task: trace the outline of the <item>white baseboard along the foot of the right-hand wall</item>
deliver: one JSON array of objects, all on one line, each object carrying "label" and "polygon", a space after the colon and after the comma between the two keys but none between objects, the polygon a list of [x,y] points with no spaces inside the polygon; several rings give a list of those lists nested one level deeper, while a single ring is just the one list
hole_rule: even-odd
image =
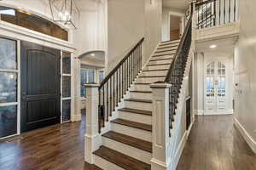
[{"label": "white baseboard along the foot of the right-hand wall", "polygon": [[235,120],[235,126],[241,133],[241,136],[247,141],[247,144],[256,154],[256,141],[251,137],[249,133],[247,133],[247,130],[241,125],[241,123],[236,119],[236,117],[234,116],[233,118]]}]

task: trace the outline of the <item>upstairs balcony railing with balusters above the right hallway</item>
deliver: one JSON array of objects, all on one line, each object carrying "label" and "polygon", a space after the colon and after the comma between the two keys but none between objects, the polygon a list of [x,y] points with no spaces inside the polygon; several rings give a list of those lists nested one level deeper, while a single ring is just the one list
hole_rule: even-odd
[{"label": "upstairs balcony railing with balusters above the right hallway", "polygon": [[238,0],[208,0],[195,4],[197,29],[236,22]]}]

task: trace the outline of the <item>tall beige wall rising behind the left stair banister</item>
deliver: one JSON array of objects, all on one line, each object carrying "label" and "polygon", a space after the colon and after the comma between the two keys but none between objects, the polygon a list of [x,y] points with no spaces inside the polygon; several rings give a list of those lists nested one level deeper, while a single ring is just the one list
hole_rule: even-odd
[{"label": "tall beige wall rising behind the left stair banister", "polygon": [[108,0],[108,57],[111,71],[142,37],[143,62],[160,42],[161,0]]}]

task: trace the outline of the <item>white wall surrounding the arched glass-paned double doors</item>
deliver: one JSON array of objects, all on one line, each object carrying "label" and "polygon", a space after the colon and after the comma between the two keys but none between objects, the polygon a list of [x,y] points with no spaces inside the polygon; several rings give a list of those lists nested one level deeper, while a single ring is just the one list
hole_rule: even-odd
[{"label": "white wall surrounding the arched glass-paned double doors", "polygon": [[233,55],[222,53],[199,53],[195,55],[195,113],[204,113],[205,65],[212,60],[221,60],[226,65],[226,111],[233,110]]}]

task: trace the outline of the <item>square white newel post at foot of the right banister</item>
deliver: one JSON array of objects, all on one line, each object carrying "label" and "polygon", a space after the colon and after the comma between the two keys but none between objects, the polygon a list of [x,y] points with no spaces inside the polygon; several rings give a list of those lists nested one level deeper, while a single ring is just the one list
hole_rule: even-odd
[{"label": "square white newel post at foot of the right banister", "polygon": [[152,110],[152,159],[151,169],[166,170],[171,165],[171,153],[169,137],[169,88],[171,84],[166,82],[155,82],[150,85],[153,96]]}]

